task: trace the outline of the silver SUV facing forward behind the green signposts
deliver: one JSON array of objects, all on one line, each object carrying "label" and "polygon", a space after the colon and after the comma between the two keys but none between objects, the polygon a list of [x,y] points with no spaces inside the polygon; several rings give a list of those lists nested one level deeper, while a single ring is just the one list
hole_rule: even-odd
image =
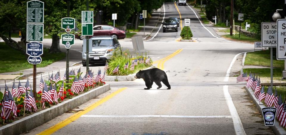
[{"label": "silver SUV facing forward behind the green signposts", "polygon": [[[93,36],[89,39],[89,64],[106,63],[120,44],[115,36]],[[86,66],[86,39],[83,40],[83,66]]]}]

